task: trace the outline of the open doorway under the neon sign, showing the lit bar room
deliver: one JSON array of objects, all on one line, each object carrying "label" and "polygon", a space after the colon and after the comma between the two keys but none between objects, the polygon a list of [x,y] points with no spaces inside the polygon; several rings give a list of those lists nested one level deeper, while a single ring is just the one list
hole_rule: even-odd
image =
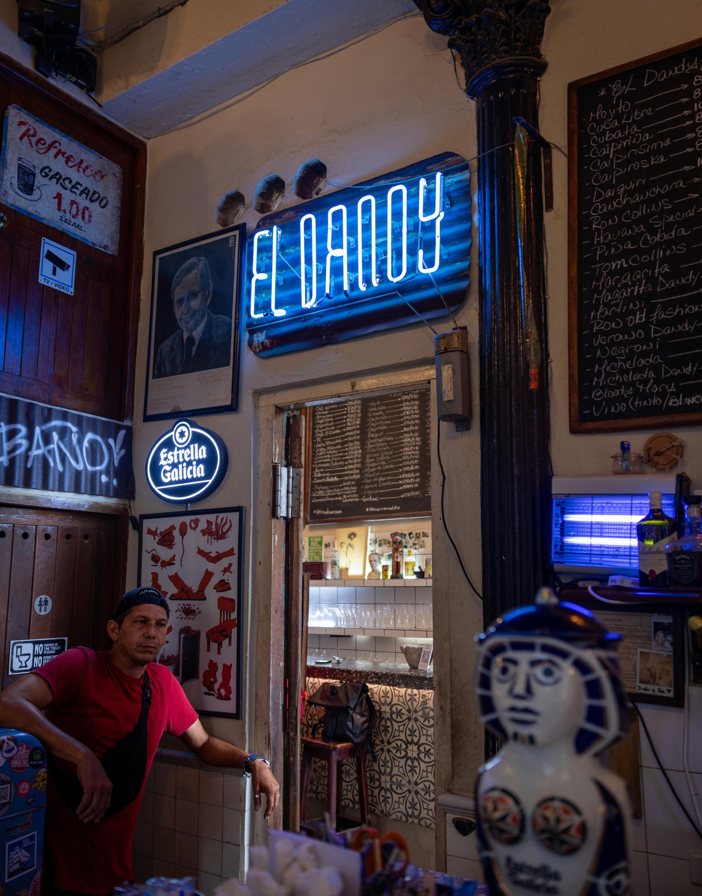
[{"label": "open doorway under the neon sign, showing the lit bar room", "polygon": [[[363,682],[379,717],[367,763],[372,823],[409,834],[425,866],[433,866],[435,797],[432,380],[433,367],[427,366],[356,380],[336,394],[330,394],[330,384],[260,397],[261,455],[270,450],[274,463],[299,465],[295,478],[300,480],[301,506],[299,516],[291,519],[267,523],[261,514],[256,585],[259,650],[265,650],[264,639],[270,638],[270,665],[265,664],[270,681],[261,681],[267,670],[257,656],[256,703],[260,710],[267,692],[271,713],[265,736],[274,764],[278,756],[285,791],[278,823],[297,830],[301,820],[304,738],[312,737],[320,714],[304,697],[325,681]],[[364,431],[360,444],[359,425]],[[378,453],[379,446],[387,456]],[[334,452],[341,470],[331,470]],[[359,502],[347,480],[357,484],[365,473],[367,484],[369,457],[375,490],[360,495],[364,500]],[[325,487],[325,478],[334,487]],[[341,479],[345,482],[339,486]],[[273,489],[273,474],[268,482],[264,476],[261,480],[262,498],[266,485]],[[316,519],[313,508],[322,512]],[[271,552],[268,564],[265,540]],[[265,565],[271,570],[268,582]],[[422,658],[425,647],[429,650]],[[421,670],[420,659],[425,667]],[[261,731],[260,722],[256,728]],[[340,827],[358,823],[361,814],[355,764],[339,763]],[[330,780],[325,763],[315,760],[307,820],[323,813]]]}]

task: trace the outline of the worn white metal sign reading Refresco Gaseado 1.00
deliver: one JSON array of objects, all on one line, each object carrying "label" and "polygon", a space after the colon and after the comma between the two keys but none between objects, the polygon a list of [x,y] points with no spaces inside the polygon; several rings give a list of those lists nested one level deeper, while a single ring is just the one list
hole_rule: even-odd
[{"label": "worn white metal sign reading Refresco Gaseado 1.00", "polygon": [[4,114],[0,201],[116,255],[122,168],[19,106]]}]

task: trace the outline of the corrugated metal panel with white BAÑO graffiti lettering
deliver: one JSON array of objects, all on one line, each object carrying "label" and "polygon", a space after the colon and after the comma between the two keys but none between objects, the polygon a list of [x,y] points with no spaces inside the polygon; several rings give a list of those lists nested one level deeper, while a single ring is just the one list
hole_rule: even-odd
[{"label": "corrugated metal panel with white BA\u00d1O graffiti lettering", "polygon": [[0,484],[133,497],[132,426],[0,394]]}]

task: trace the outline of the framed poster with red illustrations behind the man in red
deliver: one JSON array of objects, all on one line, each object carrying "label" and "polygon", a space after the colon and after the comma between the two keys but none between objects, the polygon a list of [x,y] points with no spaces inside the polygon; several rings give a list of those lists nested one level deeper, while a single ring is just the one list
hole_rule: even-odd
[{"label": "framed poster with red illustrations behind the man in red", "polygon": [[201,716],[241,719],[244,507],[139,518],[139,584],[170,606],[158,662]]}]

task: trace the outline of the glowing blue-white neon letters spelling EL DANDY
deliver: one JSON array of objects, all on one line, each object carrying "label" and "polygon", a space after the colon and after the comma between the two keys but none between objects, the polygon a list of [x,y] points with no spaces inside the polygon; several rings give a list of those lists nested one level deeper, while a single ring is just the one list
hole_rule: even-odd
[{"label": "glowing blue-white neon letters spelling EL DANDY", "polygon": [[[429,187],[427,180],[422,177],[419,181],[419,209],[416,272],[432,274],[439,268],[441,261],[441,220],[444,217],[444,176],[439,172],[434,181],[433,202],[428,198]],[[404,280],[410,272],[407,266],[407,186],[395,184],[390,186],[385,202],[379,197],[381,213],[382,204],[387,206],[387,237],[376,243],[376,197],[365,194],[355,203],[355,208],[347,209],[346,205],[334,205],[327,212],[327,257],[325,265],[317,264],[317,219],[310,212],[299,221],[299,237],[295,234],[295,243],[299,238],[299,274],[300,299],[304,309],[311,309],[317,304],[319,298],[334,297],[335,277],[332,274],[332,263],[335,260],[341,265],[343,271],[343,291],[349,294],[349,282],[355,281],[357,288],[364,293],[366,289],[377,287],[381,283],[381,276],[387,273],[391,283]],[[433,206],[433,208],[432,208]],[[393,211],[396,217],[393,218]],[[399,212],[399,215],[398,215]],[[355,223],[354,218],[355,216]],[[349,220],[350,219],[350,220]],[[398,219],[398,220],[396,220]],[[430,225],[427,233],[422,232],[422,225]],[[431,225],[433,224],[433,233]],[[364,227],[365,226],[365,227]],[[413,228],[412,221],[409,229]],[[350,231],[350,233],[349,233]],[[282,317],[287,314],[285,308],[276,307],[276,283],[280,276],[278,271],[278,253],[280,251],[282,231],[278,226],[268,230],[259,230],[253,235],[253,253],[251,270],[251,306],[250,317]],[[260,246],[261,240],[263,245]],[[387,242],[387,246],[383,246]],[[357,254],[357,271],[349,272],[349,246],[355,248]],[[425,247],[424,247],[425,246]],[[323,252],[324,249],[322,248]],[[266,258],[270,257],[270,273],[259,270],[259,253],[265,252]],[[386,259],[387,271],[381,271],[379,260]],[[318,289],[317,274],[326,267],[326,278],[323,280],[324,291]],[[382,265],[385,267],[385,265]],[[357,280],[356,280],[357,273]],[[366,275],[370,274],[370,281],[366,281]],[[270,311],[256,311],[256,284],[270,280]],[[259,302],[261,298],[259,297]],[[266,303],[268,304],[268,303]]]}]

